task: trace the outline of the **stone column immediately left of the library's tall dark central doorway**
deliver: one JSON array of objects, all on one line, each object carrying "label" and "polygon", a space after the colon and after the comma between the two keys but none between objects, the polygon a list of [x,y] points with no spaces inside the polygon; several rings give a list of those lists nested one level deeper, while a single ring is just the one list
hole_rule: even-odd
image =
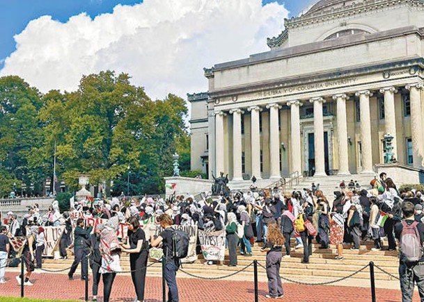
[{"label": "stone column immediately left of the library's tall dark central doorway", "polygon": [[287,106],[290,107],[290,156],[292,161],[291,172],[299,171],[299,175],[302,175],[301,168],[301,146],[300,146],[300,115],[299,107],[301,106],[300,101],[288,101]]}]

